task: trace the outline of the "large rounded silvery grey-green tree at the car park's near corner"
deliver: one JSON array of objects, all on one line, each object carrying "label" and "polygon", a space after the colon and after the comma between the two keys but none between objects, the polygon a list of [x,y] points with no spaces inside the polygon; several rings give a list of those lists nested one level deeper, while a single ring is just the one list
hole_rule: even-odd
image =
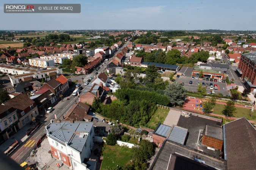
[{"label": "large rounded silvery grey-green tree at the car park's near corner", "polygon": [[184,103],[187,90],[182,83],[170,83],[165,89],[165,95],[170,99],[172,105],[182,105]]}]

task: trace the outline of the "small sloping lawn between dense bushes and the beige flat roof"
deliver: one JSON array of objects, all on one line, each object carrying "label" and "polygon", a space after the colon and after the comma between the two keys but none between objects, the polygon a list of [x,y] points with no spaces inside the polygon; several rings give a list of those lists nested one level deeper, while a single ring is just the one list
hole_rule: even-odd
[{"label": "small sloping lawn between dense bushes and the beige flat roof", "polygon": [[155,129],[159,122],[163,123],[170,110],[157,108],[150,121],[147,124],[148,128]]}]

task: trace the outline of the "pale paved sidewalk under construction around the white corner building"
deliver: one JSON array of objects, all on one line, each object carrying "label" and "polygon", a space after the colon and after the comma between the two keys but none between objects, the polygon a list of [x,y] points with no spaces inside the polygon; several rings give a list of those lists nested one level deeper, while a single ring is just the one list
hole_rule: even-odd
[{"label": "pale paved sidewalk under construction around the white corner building", "polygon": [[[56,170],[56,169],[70,170],[67,165],[63,164],[63,162],[55,159],[54,157],[52,158],[51,154],[48,153],[49,150],[50,150],[50,145],[49,145],[48,139],[46,138],[39,145],[36,152],[35,161],[38,162],[38,169],[47,168],[49,170]],[[57,163],[60,164],[61,166],[60,168],[57,168],[57,165],[56,165]]]}]

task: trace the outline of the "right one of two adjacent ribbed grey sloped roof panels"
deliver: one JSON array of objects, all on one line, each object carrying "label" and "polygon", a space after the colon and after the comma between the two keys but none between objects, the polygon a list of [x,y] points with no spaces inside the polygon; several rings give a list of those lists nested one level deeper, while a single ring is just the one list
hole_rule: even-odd
[{"label": "right one of two adjacent ribbed grey sloped roof panels", "polygon": [[174,126],[173,129],[171,130],[171,134],[168,139],[183,145],[186,139],[187,133],[188,133],[188,129],[182,128],[179,126]]}]

